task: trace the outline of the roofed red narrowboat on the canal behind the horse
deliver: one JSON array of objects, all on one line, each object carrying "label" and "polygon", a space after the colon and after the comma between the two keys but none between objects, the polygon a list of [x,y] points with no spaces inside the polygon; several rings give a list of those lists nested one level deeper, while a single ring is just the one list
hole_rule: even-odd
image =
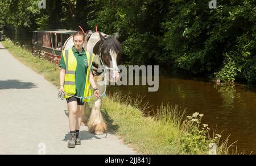
[{"label": "roofed red narrowboat on the canal behind the horse", "polygon": [[65,29],[33,31],[32,50],[43,51],[46,59],[59,64],[63,45],[75,32]]}]

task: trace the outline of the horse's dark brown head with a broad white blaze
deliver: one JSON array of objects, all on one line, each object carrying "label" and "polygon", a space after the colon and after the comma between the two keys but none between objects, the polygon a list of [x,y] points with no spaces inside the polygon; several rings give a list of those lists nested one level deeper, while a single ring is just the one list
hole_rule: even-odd
[{"label": "horse's dark brown head with a broad white blaze", "polygon": [[[103,36],[101,32],[100,41],[97,54],[101,56],[101,59],[104,61],[105,65],[110,68],[109,70],[109,79],[110,82],[116,82],[119,78],[119,72],[117,68],[117,57],[122,51],[121,43],[118,41],[119,34],[118,32],[115,36]],[[94,52],[94,51],[93,51]]]}]

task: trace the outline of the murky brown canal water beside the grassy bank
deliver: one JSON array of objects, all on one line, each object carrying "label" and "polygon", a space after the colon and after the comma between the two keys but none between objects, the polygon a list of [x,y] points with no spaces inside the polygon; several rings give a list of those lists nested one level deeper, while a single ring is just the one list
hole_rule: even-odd
[{"label": "murky brown canal water beside the grassy bank", "polygon": [[[204,114],[202,123],[218,128],[229,143],[238,142],[238,152],[256,153],[256,93],[244,85],[220,87],[212,82],[159,77],[158,92],[147,92],[147,86],[109,86],[110,92],[130,92],[131,97],[144,96],[155,110],[163,105],[179,105],[187,115]],[[150,111],[150,110],[146,110]]]}]

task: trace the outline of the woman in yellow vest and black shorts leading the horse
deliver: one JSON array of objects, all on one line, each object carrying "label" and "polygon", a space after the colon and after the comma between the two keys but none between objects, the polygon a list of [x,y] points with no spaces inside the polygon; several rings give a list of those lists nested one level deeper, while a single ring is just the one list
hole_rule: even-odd
[{"label": "woman in yellow vest and black shorts leading the horse", "polygon": [[[93,88],[94,96],[100,97],[92,75],[93,53],[86,52],[84,44],[84,33],[77,31],[73,35],[74,46],[68,51],[63,51],[60,60],[60,92],[71,94],[72,96],[88,97],[91,96],[89,86]],[[82,122],[82,112],[85,102],[89,99],[80,99],[65,94],[69,110],[69,129],[70,138],[69,148],[75,148],[81,144],[79,130]]]}]

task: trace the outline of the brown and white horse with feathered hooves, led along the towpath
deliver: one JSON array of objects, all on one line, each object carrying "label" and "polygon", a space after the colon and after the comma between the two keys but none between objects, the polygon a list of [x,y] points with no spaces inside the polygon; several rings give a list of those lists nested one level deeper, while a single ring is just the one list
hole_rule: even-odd
[{"label": "brown and white horse with feathered hooves, led along the towpath", "polygon": [[[93,75],[100,94],[106,92],[107,81],[117,82],[119,78],[117,57],[122,51],[122,46],[118,39],[118,32],[114,36],[93,31],[85,33],[84,49],[95,54]],[[64,43],[63,50],[69,49],[73,45],[73,36],[71,36]],[[96,135],[104,134],[107,131],[106,122],[101,114],[101,102],[102,96],[94,102],[91,109],[86,103],[85,111],[82,113],[82,123],[88,126],[89,132]]]}]

